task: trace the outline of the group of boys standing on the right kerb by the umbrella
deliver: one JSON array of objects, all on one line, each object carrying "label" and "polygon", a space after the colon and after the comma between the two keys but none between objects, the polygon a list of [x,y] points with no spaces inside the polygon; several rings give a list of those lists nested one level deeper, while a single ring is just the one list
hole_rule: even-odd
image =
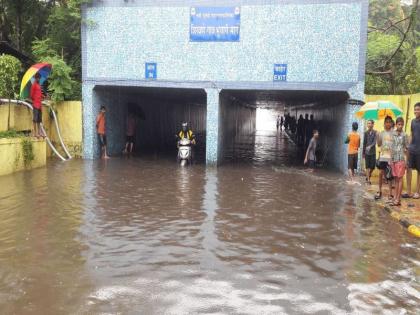
[{"label": "group of boys standing on the right kerb by the umbrella", "polygon": [[[415,118],[411,121],[411,137],[404,132],[404,118],[398,117],[395,121],[391,116],[385,117],[384,130],[374,130],[374,121],[367,122],[364,132],[362,154],[365,160],[366,182],[371,184],[371,176],[375,168],[379,169],[378,192],[375,199],[382,198],[382,187],[388,182],[388,201],[394,206],[401,205],[401,198],[420,199],[420,103],[414,106]],[[354,171],[357,169],[360,136],[357,133],[358,124],[353,123],[352,132],[349,133],[348,143],[348,169],[350,180],[354,180]],[[376,148],[379,156],[376,156]],[[417,187],[412,194],[412,172],[417,171]],[[407,192],[402,193],[403,178],[407,175]]]}]

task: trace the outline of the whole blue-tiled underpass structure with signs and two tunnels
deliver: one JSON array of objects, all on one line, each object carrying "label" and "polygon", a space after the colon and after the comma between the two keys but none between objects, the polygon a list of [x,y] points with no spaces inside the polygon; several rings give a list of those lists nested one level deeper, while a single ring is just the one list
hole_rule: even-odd
[{"label": "whole blue-tiled underpass structure with signs and two tunnels", "polygon": [[[368,0],[94,0],[83,8],[84,157],[97,158],[95,116],[108,108],[120,153],[129,103],[144,112],[136,144],[173,148],[182,121],[203,159],[220,163],[256,109],[312,113],[345,170],[343,145],[364,98]],[[153,141],[151,141],[153,139]],[[200,149],[200,150],[201,150]]]}]

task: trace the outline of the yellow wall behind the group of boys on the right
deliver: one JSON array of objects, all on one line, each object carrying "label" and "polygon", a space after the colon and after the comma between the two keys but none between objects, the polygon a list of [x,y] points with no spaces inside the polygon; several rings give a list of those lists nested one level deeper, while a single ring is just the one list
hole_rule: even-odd
[{"label": "yellow wall behind the group of boys on the right", "polygon": [[[411,120],[414,119],[414,105],[420,102],[420,93],[412,94],[412,95],[365,95],[365,102],[373,102],[373,101],[391,101],[395,105],[399,106],[403,110],[402,117],[404,118],[405,125],[404,130],[407,134],[411,134],[410,126]],[[384,130],[383,121],[375,122],[375,129],[378,131]],[[414,172],[413,174],[413,183],[412,183],[412,190],[415,189],[415,185],[417,183],[417,176]],[[405,180],[404,180],[405,186]]]}]

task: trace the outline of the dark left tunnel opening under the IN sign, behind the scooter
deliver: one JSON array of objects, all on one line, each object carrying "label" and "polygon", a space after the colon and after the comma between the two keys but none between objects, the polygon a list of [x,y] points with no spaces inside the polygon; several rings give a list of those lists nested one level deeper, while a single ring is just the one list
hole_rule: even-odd
[{"label": "dark left tunnel opening under the IN sign, behind the scooter", "polygon": [[96,103],[107,108],[108,151],[120,155],[125,147],[127,116],[136,121],[134,153],[176,159],[175,135],[182,122],[194,131],[195,160],[205,161],[206,93],[202,89],[97,86]]}]

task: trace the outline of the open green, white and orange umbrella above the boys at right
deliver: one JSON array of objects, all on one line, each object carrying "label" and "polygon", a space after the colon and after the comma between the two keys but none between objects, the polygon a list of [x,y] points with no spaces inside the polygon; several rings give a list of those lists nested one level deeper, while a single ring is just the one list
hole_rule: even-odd
[{"label": "open green, white and orange umbrella above the boys at right", "polygon": [[361,119],[381,120],[386,116],[396,118],[400,116],[403,111],[394,103],[390,101],[376,101],[367,102],[357,112],[356,117]]}]

